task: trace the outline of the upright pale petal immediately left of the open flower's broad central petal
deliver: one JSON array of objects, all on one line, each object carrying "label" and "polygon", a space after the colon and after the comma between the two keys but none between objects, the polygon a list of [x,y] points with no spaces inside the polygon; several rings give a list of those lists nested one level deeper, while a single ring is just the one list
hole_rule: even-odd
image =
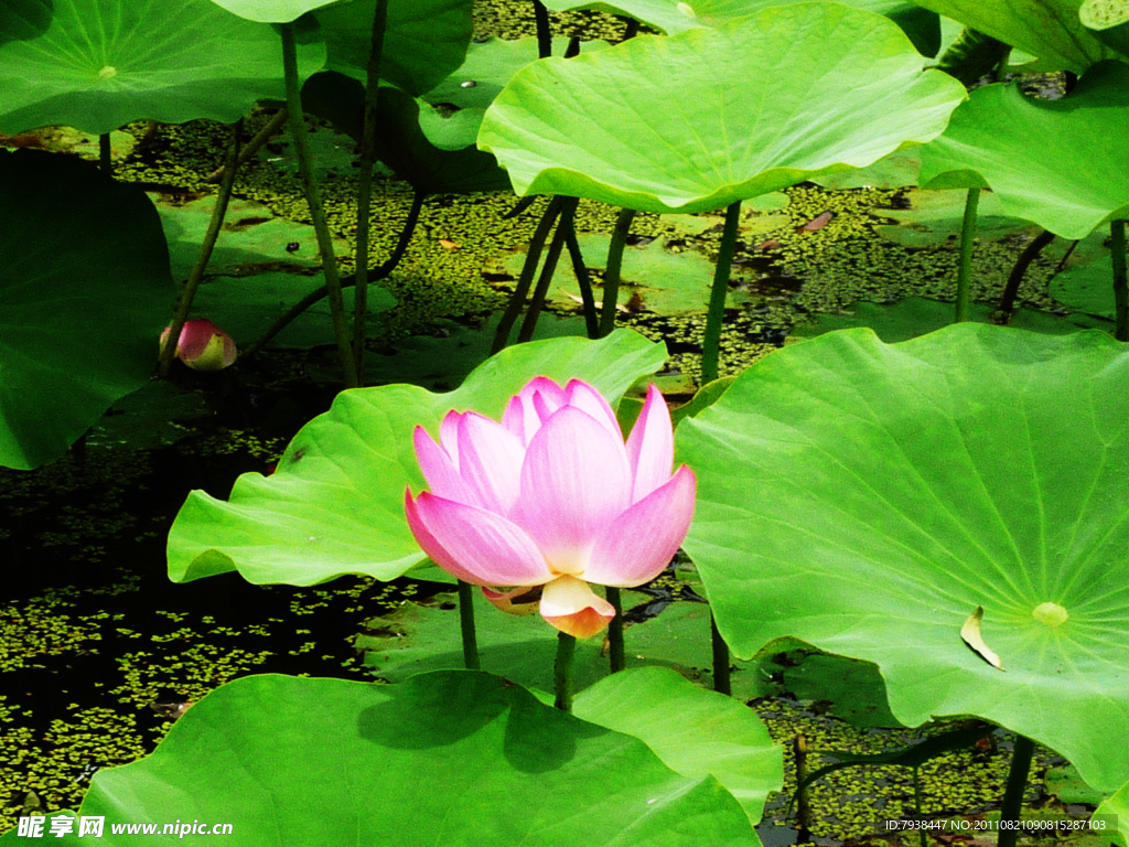
[{"label": "upright pale petal immediately left of the open flower's broad central petal", "polygon": [[501,424],[475,412],[458,422],[458,471],[476,505],[508,515],[520,491],[524,457],[524,445]]}]

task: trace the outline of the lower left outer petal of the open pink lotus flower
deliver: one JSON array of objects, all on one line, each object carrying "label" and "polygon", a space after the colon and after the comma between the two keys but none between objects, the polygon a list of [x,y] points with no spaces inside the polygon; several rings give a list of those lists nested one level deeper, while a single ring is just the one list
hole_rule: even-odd
[{"label": "lower left outer petal of the open pink lotus flower", "polygon": [[425,491],[404,494],[412,534],[436,565],[472,585],[541,585],[555,574],[513,521]]}]

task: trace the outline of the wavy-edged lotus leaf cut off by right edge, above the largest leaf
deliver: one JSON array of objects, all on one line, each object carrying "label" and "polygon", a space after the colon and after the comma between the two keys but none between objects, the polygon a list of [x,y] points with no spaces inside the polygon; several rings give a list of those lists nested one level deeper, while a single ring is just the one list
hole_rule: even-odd
[{"label": "wavy-edged lotus leaf cut off by right edge, above the largest leaf", "polygon": [[[1027,98],[1015,84],[986,86],[945,134],[921,149],[921,185],[975,172],[1004,211],[1065,238],[1129,217],[1129,67],[1102,62],[1069,97]],[[1038,139],[1033,143],[1032,139]]]}]

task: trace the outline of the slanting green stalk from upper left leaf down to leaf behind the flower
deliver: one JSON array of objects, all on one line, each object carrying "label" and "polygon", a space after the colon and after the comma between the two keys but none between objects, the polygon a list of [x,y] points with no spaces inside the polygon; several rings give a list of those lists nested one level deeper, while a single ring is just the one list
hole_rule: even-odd
[{"label": "slanting green stalk from upper left leaf down to leaf behind the flower", "polygon": [[330,299],[330,314],[333,316],[333,334],[338,340],[338,357],[341,360],[341,373],[347,388],[356,388],[357,367],[352,350],[349,348],[349,320],[345,317],[345,305],[341,297],[341,277],[338,272],[338,260],[333,255],[333,236],[325,221],[325,209],[322,208],[322,195],[314,180],[314,157],[309,150],[309,139],[306,137],[306,120],[301,111],[301,86],[298,82],[298,47],[295,43],[294,23],[281,24],[282,27],[282,70],[286,75],[286,106],[290,112],[290,134],[294,138],[294,149],[298,156],[298,174],[301,176],[301,187],[309,206],[309,218],[317,235],[317,250],[322,255],[322,272],[325,274],[325,286]]}]

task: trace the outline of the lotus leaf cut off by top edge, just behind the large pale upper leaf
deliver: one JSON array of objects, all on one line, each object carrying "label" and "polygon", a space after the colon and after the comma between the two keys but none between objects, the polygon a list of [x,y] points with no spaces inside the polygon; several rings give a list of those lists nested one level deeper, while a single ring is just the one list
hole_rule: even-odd
[{"label": "lotus leaf cut off by top edge, just behind the large pale upper leaf", "polygon": [[[557,11],[593,9],[627,15],[667,35],[676,35],[686,29],[721,26],[769,6],[787,6],[789,2],[809,0],[695,0],[693,3],[679,0],[549,0],[545,6]],[[940,18],[934,12],[901,0],[843,0],[843,6],[876,11],[896,21],[926,55],[935,55],[940,47]]]}]

